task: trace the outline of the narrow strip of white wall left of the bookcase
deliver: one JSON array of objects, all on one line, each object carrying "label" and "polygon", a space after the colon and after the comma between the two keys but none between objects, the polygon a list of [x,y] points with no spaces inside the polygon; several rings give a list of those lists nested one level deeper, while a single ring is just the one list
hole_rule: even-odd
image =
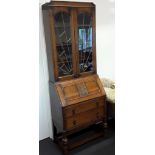
[{"label": "narrow strip of white wall left of the bookcase", "polygon": [[53,131],[48,89],[46,46],[43,33],[41,8],[39,10],[39,15],[39,140],[42,140],[47,137],[52,138]]}]

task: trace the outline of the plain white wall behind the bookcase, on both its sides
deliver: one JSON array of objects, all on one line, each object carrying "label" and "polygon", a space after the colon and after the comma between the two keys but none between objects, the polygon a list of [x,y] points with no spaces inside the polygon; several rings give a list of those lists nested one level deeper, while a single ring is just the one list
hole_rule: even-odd
[{"label": "plain white wall behind the bookcase, on both its sides", "polygon": [[[69,0],[68,0],[69,1]],[[75,0],[72,0],[75,1]],[[83,0],[78,0],[83,1]],[[97,72],[100,77],[115,79],[114,77],[114,0],[86,0],[96,4],[96,53]],[[49,0],[40,0],[40,6]],[[84,1],[83,1],[84,2]],[[39,140],[52,135],[52,118],[48,91],[48,71],[46,46],[42,26],[40,7],[40,39],[39,39]]]}]

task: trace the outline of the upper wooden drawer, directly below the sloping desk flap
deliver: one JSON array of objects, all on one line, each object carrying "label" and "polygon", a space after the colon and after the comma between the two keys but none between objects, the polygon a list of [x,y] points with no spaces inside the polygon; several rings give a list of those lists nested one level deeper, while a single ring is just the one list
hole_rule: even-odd
[{"label": "upper wooden drawer, directly below the sloping desk flap", "polygon": [[104,98],[97,98],[97,99],[92,99],[85,102],[77,103],[75,105],[64,108],[64,117],[68,118],[68,117],[77,115],[79,113],[96,109],[101,106],[104,106]]}]

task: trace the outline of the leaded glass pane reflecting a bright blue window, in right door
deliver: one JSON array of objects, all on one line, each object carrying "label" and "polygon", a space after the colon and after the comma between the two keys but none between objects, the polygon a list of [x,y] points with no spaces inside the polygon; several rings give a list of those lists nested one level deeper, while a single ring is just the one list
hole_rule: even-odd
[{"label": "leaded glass pane reflecting a bright blue window, in right door", "polygon": [[78,52],[80,72],[93,71],[92,65],[92,17],[88,13],[78,15]]}]

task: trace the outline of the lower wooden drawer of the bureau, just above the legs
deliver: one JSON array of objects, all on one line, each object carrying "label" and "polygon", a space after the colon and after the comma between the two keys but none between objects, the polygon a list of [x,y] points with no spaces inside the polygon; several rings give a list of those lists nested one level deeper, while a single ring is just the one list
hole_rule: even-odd
[{"label": "lower wooden drawer of the bureau, just above the legs", "polygon": [[85,124],[92,124],[93,122],[104,117],[104,107],[89,110],[87,112],[79,113],[73,117],[64,119],[64,127],[66,130],[76,128]]}]

